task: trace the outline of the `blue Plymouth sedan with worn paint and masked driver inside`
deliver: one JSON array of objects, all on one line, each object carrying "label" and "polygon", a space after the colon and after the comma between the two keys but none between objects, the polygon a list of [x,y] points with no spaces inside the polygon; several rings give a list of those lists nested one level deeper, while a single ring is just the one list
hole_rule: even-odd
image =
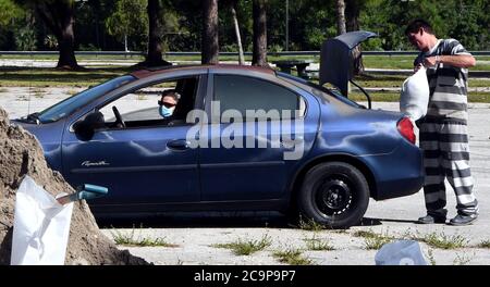
[{"label": "blue Plymouth sedan with worn paint and masked driver inside", "polygon": [[262,67],[137,71],[16,123],[72,186],[109,188],[89,202],[99,219],[280,211],[340,228],[369,198],[413,195],[424,178],[407,117]]}]

